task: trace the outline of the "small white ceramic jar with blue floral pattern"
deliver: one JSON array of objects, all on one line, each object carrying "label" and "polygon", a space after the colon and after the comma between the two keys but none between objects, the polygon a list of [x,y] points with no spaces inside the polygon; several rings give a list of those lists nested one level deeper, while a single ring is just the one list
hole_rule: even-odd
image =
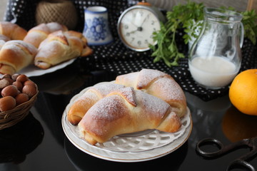
[{"label": "small white ceramic jar with blue floral pattern", "polygon": [[111,43],[113,37],[109,30],[108,11],[104,6],[90,6],[85,9],[84,36],[89,45]]}]

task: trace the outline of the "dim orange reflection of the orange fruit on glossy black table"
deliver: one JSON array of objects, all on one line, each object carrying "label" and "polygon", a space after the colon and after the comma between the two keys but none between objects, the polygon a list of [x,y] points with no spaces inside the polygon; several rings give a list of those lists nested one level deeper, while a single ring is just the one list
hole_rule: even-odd
[{"label": "dim orange reflection of the orange fruit on glossy black table", "polygon": [[234,106],[228,108],[222,120],[222,130],[231,142],[257,136],[257,117],[245,115]]}]

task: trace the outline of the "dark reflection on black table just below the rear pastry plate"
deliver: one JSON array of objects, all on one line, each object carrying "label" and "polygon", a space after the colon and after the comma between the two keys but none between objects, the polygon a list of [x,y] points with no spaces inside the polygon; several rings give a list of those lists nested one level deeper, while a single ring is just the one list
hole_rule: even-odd
[{"label": "dark reflection on black table just below the rear pastry plate", "polygon": [[88,86],[103,81],[113,81],[116,78],[116,73],[113,72],[89,71],[89,66],[81,66],[82,62],[78,59],[66,68],[43,76],[30,77],[30,79],[37,84],[41,92],[54,95],[75,95],[74,93],[79,93]]}]

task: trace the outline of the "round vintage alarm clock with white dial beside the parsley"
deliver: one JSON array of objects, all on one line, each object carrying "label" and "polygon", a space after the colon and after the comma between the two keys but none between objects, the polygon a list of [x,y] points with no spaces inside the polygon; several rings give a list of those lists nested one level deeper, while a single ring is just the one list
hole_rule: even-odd
[{"label": "round vintage alarm clock with white dial beside the parsley", "polygon": [[133,51],[147,51],[149,44],[155,45],[153,32],[161,29],[165,17],[156,7],[142,1],[126,9],[118,21],[121,41]]}]

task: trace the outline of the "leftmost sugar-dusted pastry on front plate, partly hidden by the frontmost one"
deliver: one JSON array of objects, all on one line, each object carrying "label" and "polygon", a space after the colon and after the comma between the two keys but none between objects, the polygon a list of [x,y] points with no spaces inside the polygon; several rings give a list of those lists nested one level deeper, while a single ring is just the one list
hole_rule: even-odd
[{"label": "leftmost sugar-dusted pastry on front plate, partly hidden by the frontmost one", "polygon": [[98,84],[86,90],[86,92],[78,98],[68,111],[67,118],[73,125],[77,125],[84,117],[86,112],[101,98],[104,98],[111,91],[124,88],[119,84],[103,83]]}]

